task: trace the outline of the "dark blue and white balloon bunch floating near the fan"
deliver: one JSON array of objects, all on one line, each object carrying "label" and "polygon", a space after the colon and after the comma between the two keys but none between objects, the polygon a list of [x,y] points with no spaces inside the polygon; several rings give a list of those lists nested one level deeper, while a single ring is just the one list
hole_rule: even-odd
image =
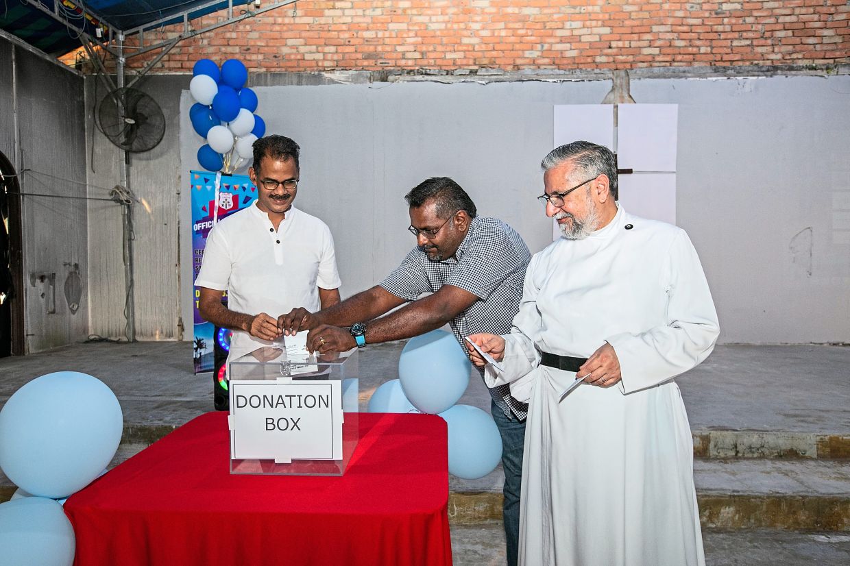
[{"label": "dark blue and white balloon bunch floating near the fan", "polygon": [[221,69],[212,59],[200,59],[192,74],[189,90],[196,102],[189,117],[207,140],[198,150],[198,163],[207,171],[233,173],[251,158],[254,142],[265,133],[263,118],[254,114],[257,93],[245,86],[248,70],[237,59],[227,59]]}]

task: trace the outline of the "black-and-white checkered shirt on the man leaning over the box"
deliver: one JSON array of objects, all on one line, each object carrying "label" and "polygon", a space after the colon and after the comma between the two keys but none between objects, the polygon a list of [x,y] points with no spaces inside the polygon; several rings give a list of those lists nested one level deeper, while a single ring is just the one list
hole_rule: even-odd
[{"label": "black-and-white checkered shirt on the man leaning over the box", "polygon": [[[501,335],[511,331],[530,259],[529,249],[516,230],[498,218],[477,217],[454,258],[432,261],[415,247],[380,285],[405,301],[415,301],[423,293],[436,292],[444,285],[460,287],[479,297],[449,322],[466,352],[463,337],[477,332]],[[490,388],[490,395],[507,416],[513,413],[520,420],[527,416],[528,405],[513,399],[509,386]]]}]

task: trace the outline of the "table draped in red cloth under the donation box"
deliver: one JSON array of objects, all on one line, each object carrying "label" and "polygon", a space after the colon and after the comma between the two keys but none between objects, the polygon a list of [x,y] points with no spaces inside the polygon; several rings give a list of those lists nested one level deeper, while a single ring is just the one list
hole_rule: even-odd
[{"label": "table draped in red cloth under the donation box", "polygon": [[360,414],[342,477],[229,473],[207,413],[71,495],[76,566],[451,563],[446,425]]}]

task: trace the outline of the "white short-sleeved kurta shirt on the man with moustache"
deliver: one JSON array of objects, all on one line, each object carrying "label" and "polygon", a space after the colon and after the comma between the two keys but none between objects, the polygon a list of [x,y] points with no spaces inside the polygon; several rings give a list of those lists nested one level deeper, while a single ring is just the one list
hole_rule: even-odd
[{"label": "white short-sleeved kurta shirt on the man with moustache", "polygon": [[[228,308],[276,318],[292,308],[320,308],[319,287],[342,284],[331,230],[291,207],[278,229],[253,202],[215,225],[207,236],[195,286],[228,291]],[[228,363],[271,342],[234,331]]]}]

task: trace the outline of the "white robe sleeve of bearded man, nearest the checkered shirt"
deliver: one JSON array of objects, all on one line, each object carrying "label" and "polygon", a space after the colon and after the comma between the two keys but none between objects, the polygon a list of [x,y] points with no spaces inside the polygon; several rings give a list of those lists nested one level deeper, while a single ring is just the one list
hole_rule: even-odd
[{"label": "white robe sleeve of bearded man, nearest the checkered shirt", "polygon": [[536,381],[540,365],[540,352],[535,346],[535,339],[541,331],[541,317],[537,310],[537,293],[534,273],[537,266],[537,256],[531,258],[525,271],[523,298],[519,302],[519,312],[513,317],[513,328],[505,339],[505,355],[501,360],[502,371],[496,370],[490,364],[484,366],[484,382],[493,388],[506,383],[511,386],[514,399],[527,403],[531,398],[531,389]]}]

